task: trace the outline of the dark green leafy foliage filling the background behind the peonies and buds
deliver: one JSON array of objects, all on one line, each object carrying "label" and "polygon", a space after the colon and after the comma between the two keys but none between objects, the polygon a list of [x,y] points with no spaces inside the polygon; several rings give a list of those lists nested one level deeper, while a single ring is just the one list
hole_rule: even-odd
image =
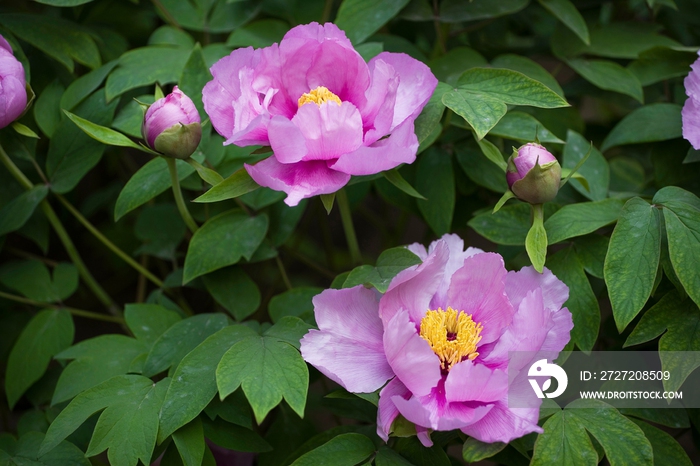
[{"label": "dark green leafy foliage filling the background behind the peonies and buds", "polygon": [[[204,225],[192,236],[162,159],[97,142],[62,111],[138,140],[133,99],[177,83],[204,118],[212,63],[327,20],[366,59],[408,53],[442,83],[416,124],[418,160],[398,170],[427,200],[395,172],[345,189],[376,270],[349,273],[337,207],[289,208],[265,188],[189,203]],[[311,297],[386,286],[415,261],[398,246],[456,232],[511,269],[529,265],[529,207],[491,210],[511,147],[537,135],[565,168],[594,146],[580,170],[589,189],[573,180],[545,206],[547,266],[571,291],[570,349],[700,350],[700,153],[680,116],[697,1],[10,0],[0,34],[37,94],[21,122],[40,136],[0,130],[0,464],[700,461],[697,410],[603,403],[543,409],[545,434],[510,445],[436,432],[431,449],[415,437],[387,446],[376,395],[338,389],[295,349],[314,325]],[[532,86],[493,104],[460,81],[483,67],[523,73],[570,106],[546,108]],[[484,125],[493,112],[498,124]],[[265,156],[222,141],[205,125],[194,158],[224,178]],[[210,189],[184,162],[178,174],[188,200]]]}]

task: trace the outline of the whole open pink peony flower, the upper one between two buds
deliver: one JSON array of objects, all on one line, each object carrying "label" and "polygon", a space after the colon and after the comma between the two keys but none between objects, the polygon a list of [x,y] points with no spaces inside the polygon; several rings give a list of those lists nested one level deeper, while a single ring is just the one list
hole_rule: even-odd
[{"label": "whole open pink peony flower, the upper one between two buds", "polygon": [[426,65],[402,53],[365,63],[331,23],[234,50],[211,73],[202,100],[214,128],[226,144],[271,146],[273,156],[246,170],[286,192],[290,206],[337,191],[350,175],[413,162],[413,122],[437,86]]}]

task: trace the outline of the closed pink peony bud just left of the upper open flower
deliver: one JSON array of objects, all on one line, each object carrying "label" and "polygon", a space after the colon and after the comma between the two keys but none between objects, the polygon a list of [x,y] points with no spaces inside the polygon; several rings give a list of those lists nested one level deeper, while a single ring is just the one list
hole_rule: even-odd
[{"label": "closed pink peony bud just left of the upper open flower", "polygon": [[141,132],[151,147],[168,157],[186,159],[202,139],[199,113],[192,99],[175,86],[146,111]]}]

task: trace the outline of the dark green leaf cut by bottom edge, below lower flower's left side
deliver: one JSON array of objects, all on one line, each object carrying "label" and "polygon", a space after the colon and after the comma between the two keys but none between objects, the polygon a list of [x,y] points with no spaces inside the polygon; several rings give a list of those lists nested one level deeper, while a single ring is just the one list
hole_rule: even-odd
[{"label": "dark green leaf cut by bottom edge, below lower flower's left side", "polygon": [[318,448],[300,456],[293,466],[354,466],[374,453],[374,443],[362,434],[348,433],[333,437]]}]

